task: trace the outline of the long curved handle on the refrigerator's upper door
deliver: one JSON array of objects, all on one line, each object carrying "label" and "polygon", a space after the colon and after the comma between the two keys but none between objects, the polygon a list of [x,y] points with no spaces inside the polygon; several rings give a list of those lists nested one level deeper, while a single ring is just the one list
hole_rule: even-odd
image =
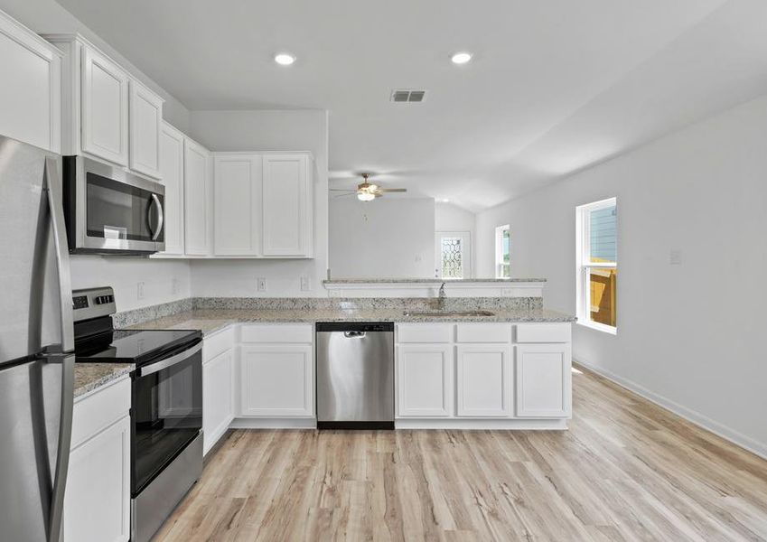
[{"label": "long curved handle on the refrigerator's upper door", "polygon": [[42,186],[48,195],[48,207],[53,225],[53,243],[56,248],[56,266],[59,272],[59,295],[61,306],[61,350],[74,350],[74,323],[72,322],[72,284],[70,278],[70,253],[67,245],[67,229],[64,225],[64,207],[61,202],[61,184],[56,160],[45,158]]}]

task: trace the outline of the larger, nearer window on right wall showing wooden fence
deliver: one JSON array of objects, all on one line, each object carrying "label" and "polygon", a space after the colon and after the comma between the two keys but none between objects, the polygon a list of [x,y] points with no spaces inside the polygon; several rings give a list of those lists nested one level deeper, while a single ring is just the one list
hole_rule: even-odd
[{"label": "larger, nearer window on right wall showing wooden fence", "polygon": [[575,209],[578,323],[615,333],[618,280],[618,206],[615,198]]}]

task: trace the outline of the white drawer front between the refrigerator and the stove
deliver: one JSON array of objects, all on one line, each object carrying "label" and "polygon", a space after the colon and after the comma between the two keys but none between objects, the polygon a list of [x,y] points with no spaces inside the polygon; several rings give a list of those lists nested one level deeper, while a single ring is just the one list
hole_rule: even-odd
[{"label": "white drawer front between the refrigerator and the stove", "polygon": [[130,410],[130,378],[127,375],[93,395],[75,400],[72,443],[75,448],[99,431],[127,416]]}]

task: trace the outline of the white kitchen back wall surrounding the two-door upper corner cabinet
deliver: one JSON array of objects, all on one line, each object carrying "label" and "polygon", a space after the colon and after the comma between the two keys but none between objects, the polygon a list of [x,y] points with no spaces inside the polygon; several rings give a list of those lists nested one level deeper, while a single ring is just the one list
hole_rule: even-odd
[{"label": "white kitchen back wall surrounding the two-door upper corner cabinet", "polygon": [[[312,151],[314,155],[314,258],[306,260],[192,261],[198,296],[324,296],[328,267],[328,117],[316,109],[192,111],[192,137],[212,151]],[[311,289],[301,291],[301,276]],[[257,277],[267,292],[257,292]]]}]

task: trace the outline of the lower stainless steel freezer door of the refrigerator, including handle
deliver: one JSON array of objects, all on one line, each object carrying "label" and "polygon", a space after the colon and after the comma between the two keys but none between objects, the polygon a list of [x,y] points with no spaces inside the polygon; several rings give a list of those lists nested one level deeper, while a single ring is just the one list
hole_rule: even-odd
[{"label": "lower stainless steel freezer door of the refrigerator, including handle", "polygon": [[0,539],[60,539],[73,373],[73,356],[0,367]]}]

